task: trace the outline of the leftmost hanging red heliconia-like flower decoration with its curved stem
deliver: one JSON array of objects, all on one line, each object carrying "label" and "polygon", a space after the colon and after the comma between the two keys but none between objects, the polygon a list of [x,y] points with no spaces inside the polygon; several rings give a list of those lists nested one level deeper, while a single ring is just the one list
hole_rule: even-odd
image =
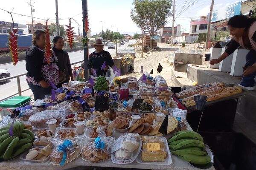
[{"label": "leftmost hanging red heliconia-like flower decoration with its curved stem", "polygon": [[[11,14],[11,13],[9,13]],[[11,14],[12,16],[12,14]],[[17,48],[17,36],[15,36],[15,33],[18,32],[18,28],[14,29],[14,22],[12,18],[12,29],[9,31],[10,37],[8,37],[8,46],[11,51],[11,57],[12,57],[12,64],[16,65],[18,60],[19,60],[19,55],[18,55],[18,48]]]}]

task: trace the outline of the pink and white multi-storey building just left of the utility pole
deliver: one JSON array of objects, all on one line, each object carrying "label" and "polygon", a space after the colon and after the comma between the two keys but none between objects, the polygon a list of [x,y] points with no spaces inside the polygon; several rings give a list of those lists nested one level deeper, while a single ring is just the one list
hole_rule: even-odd
[{"label": "pink and white multi-storey building just left of the utility pole", "polygon": [[190,20],[190,35],[198,35],[199,33],[207,34],[208,15],[200,17],[200,20]]}]

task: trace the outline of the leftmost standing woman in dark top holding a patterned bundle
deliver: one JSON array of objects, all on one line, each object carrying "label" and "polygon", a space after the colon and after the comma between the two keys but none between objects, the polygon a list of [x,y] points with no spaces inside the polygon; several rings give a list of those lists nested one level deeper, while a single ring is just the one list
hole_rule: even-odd
[{"label": "leftmost standing woman in dark top holding a patterned bundle", "polygon": [[59,82],[59,69],[55,61],[56,57],[50,57],[50,64],[44,57],[44,45],[46,34],[37,30],[33,34],[33,45],[26,50],[26,81],[34,94],[34,99],[44,99],[51,93],[49,82],[55,85]]}]

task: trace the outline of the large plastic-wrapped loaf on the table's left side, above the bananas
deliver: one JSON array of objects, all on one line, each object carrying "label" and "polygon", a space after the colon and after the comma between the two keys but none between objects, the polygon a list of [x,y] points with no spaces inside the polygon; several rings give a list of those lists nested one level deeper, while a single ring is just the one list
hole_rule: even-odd
[{"label": "large plastic-wrapped loaf on the table's left side, above the bananas", "polygon": [[66,112],[63,109],[55,111],[41,111],[30,116],[29,123],[30,125],[35,126],[36,129],[47,129],[47,120],[56,119],[56,125],[59,125],[61,122],[61,118],[65,115],[65,113]]}]

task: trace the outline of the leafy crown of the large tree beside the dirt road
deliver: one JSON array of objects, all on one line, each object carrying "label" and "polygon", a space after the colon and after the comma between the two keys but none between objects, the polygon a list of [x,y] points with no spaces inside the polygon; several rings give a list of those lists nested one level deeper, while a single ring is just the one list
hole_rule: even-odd
[{"label": "leafy crown of the large tree beside the dirt road", "polygon": [[133,3],[131,19],[138,27],[147,29],[150,35],[163,28],[172,15],[172,0],[134,0]]}]

